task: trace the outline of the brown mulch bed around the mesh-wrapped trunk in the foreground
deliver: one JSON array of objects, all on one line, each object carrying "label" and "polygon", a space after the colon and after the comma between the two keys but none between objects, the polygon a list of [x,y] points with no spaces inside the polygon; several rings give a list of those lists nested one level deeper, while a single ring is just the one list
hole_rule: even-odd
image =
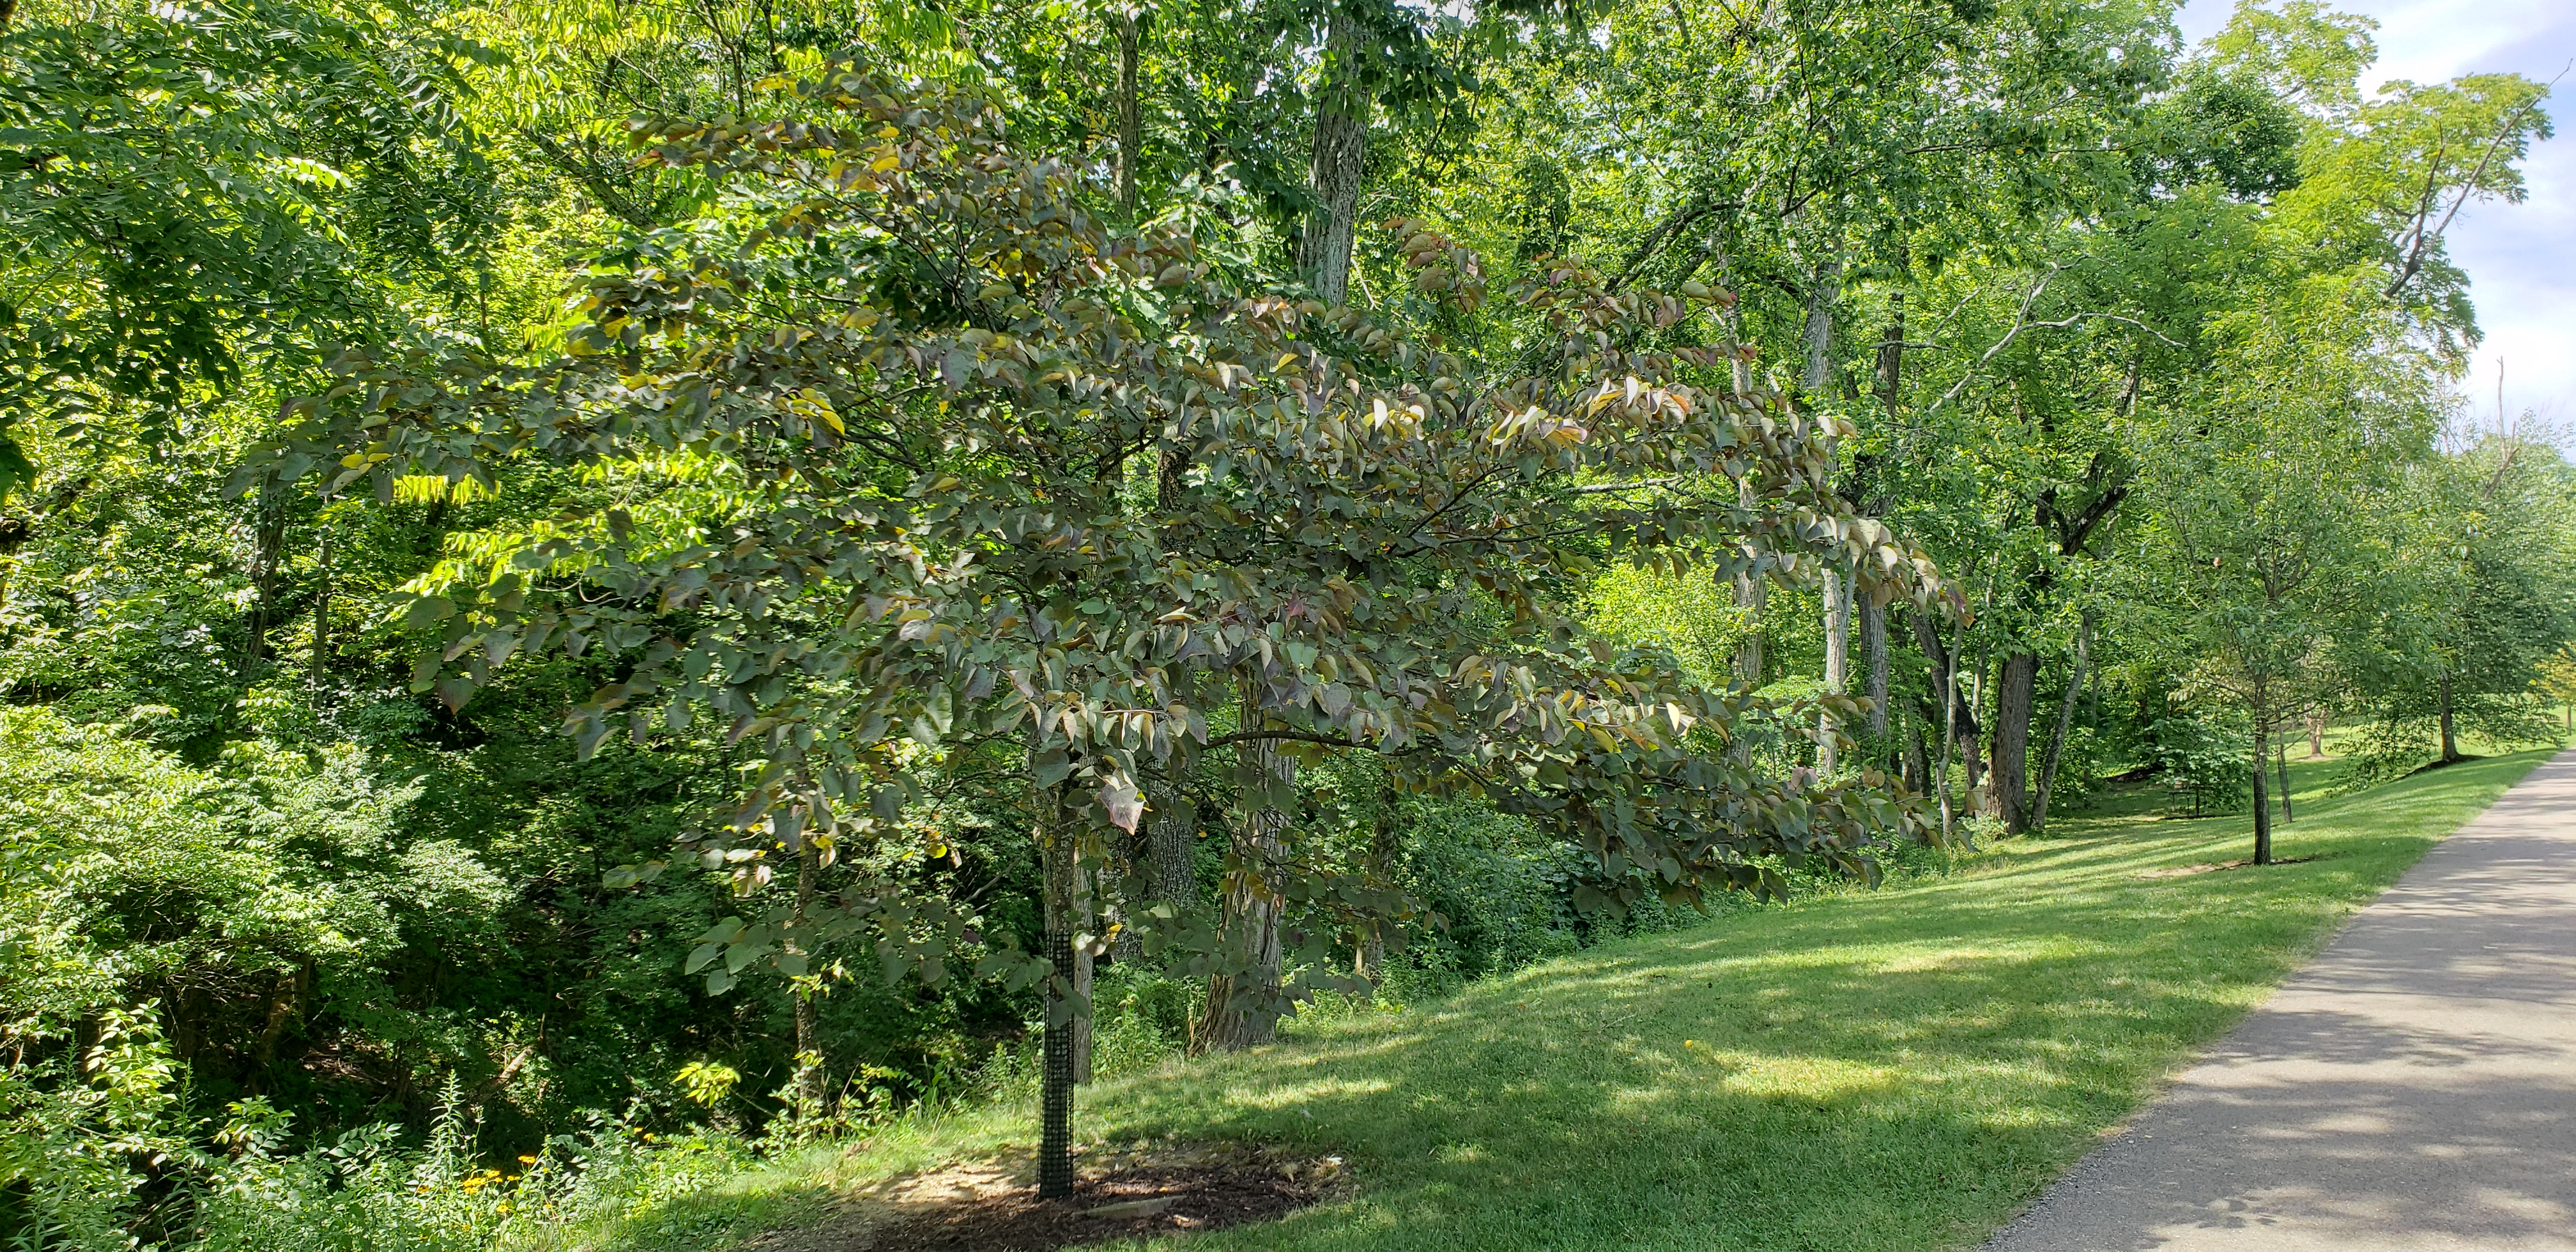
[{"label": "brown mulch bed around the mesh-wrapped trunk in the foreground", "polygon": [[1046,1252],[1167,1231],[1213,1231],[1285,1216],[1342,1182],[1342,1159],[1260,1149],[1131,1152],[1087,1159],[1074,1193],[1041,1200],[1018,1162],[953,1164],[904,1180],[891,1221],[860,1247],[884,1252]]}]

